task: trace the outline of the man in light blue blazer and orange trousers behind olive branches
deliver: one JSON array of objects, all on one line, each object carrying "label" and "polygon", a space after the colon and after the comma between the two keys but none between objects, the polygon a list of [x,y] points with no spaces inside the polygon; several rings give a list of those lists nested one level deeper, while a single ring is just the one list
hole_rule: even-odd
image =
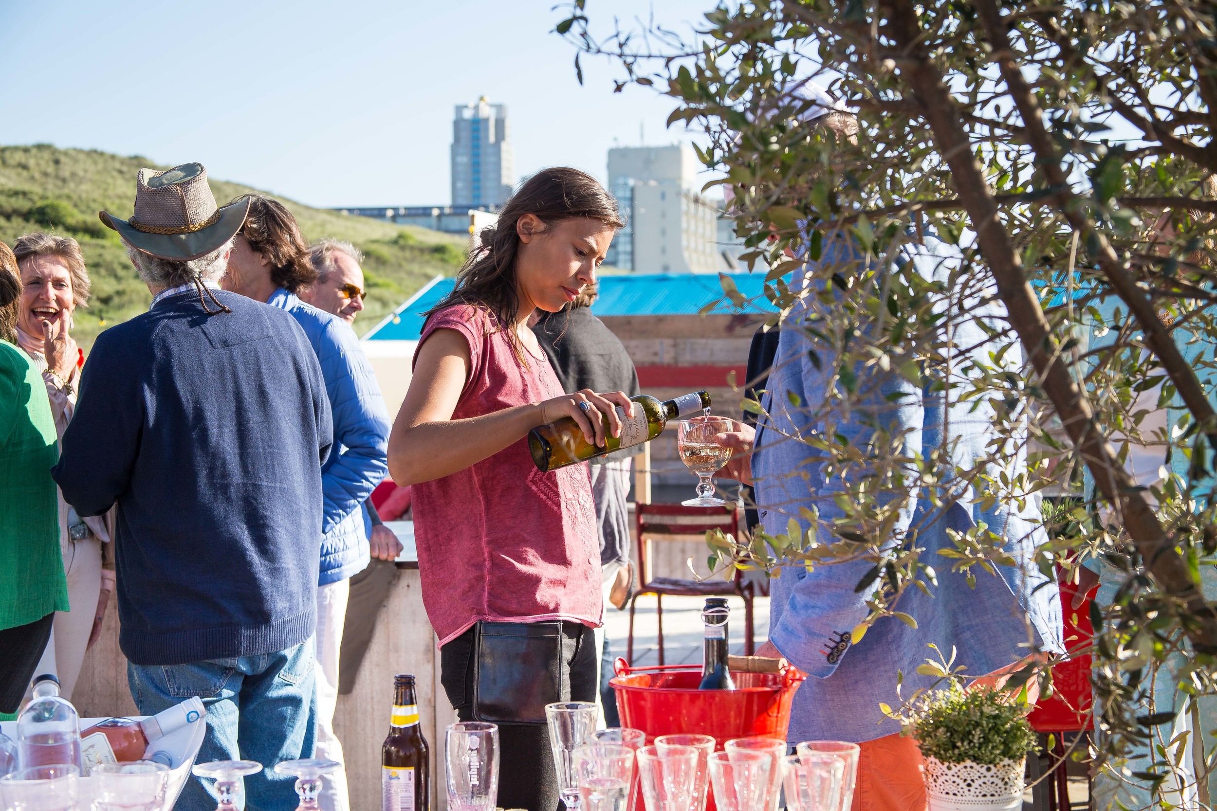
[{"label": "man in light blue blazer and orange trousers behind olive branches", "polygon": [[[929,644],[948,658],[954,651],[954,666],[963,665],[965,674],[976,677],[1038,653],[1064,651],[1056,584],[1034,562],[1036,547],[1047,540],[1038,502],[1028,497],[1021,505],[1000,500],[976,503],[977,494],[955,473],[980,468],[983,475],[998,478],[1004,472],[1016,477],[1026,468],[1021,443],[1011,443],[991,456],[989,444],[997,438],[992,406],[983,400],[960,401],[969,377],[976,373],[972,365],[992,367],[991,353],[1003,343],[1013,345],[1000,362],[1015,373],[1022,366],[1020,347],[1008,330],[996,291],[977,285],[975,274],[959,274],[960,260],[952,246],[931,237],[919,244],[910,236],[896,264],[903,266],[905,277],[915,274],[940,285],[937,294],[942,300],[935,311],[943,317],[937,328],[943,331],[943,338],[949,333],[947,345],[953,349],[936,367],[938,371],[927,370],[922,385],[894,370],[859,367],[860,401],[853,404],[848,416],[832,417],[820,406],[830,398],[830,387],[839,384],[834,378],[841,365],[837,349],[806,327],[815,308],[832,306],[831,297],[825,304],[817,295],[825,289],[824,278],[831,276],[831,270],[848,277],[867,260],[851,240],[825,240],[819,261],[795,271],[791,282],[792,291],[812,294],[795,306],[783,325],[762,400],[767,417],[759,421],[755,439],[738,438],[740,444],[753,447],[751,469],[741,466],[741,478],[751,475],[753,480],[764,531],[786,533],[790,519],[806,530],[806,509],[801,508],[814,507],[821,542],[829,541],[832,520],[843,516],[834,496],[848,492],[848,481],[842,481],[839,473],[825,474],[824,456],[804,439],[837,434],[854,447],[865,447],[881,426],[898,438],[903,457],[925,457],[932,450],[946,456],[935,485],[938,492],[930,494],[926,486],[916,490],[884,540],[888,550],[921,547],[920,559],[937,570],[937,585],[926,584],[929,595],[910,587],[892,607],[914,618],[915,630],[901,619],[886,616],[874,623],[862,640],[854,638],[856,629],[869,614],[867,601],[881,585],[879,579],[857,590],[874,561],[817,565],[812,571],[786,567],[772,581],[769,642],[762,653],[780,654],[811,676],[795,695],[787,739],[792,744],[813,739],[862,744],[854,809],[863,811],[925,809],[916,745],[899,737],[899,725],[880,706],[897,708],[902,697],[933,685],[933,676],[916,672],[927,658],[937,658]],[[964,281],[976,288],[961,289]],[[862,323],[859,328],[865,332],[873,326]],[[1005,337],[991,338],[994,331]],[[881,501],[892,497],[888,494]],[[1013,565],[994,564],[993,574],[974,567],[971,585],[966,575],[950,570],[952,561],[938,551],[955,548],[948,530],[966,533],[980,524],[1004,540],[1002,551]]]}]

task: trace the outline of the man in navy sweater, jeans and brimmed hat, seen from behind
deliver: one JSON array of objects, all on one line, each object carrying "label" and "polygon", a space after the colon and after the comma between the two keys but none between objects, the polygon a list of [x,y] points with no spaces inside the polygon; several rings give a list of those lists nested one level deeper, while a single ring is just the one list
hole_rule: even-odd
[{"label": "man in navy sweater, jeans and brimmed hat, seen from behind", "polygon": [[[101,213],[153,294],[97,337],[54,469],[80,516],[118,505],[119,643],[140,711],[207,705],[209,760],[310,758],[321,464],[330,404],[296,320],[219,289],[248,210],[198,164],[141,169],[135,215]],[[248,807],[296,807],[246,778]],[[176,809],[215,800],[191,781]]]}]

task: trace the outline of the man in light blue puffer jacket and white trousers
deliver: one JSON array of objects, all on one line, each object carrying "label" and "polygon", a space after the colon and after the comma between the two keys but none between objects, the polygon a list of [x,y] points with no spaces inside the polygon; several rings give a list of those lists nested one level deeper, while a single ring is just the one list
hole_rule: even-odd
[{"label": "man in light blue puffer jacket and white trousers", "polygon": [[[229,258],[225,289],[287,310],[304,330],[321,364],[333,412],[335,452],[321,468],[321,569],[316,590],[316,758],[342,762],[333,734],[338,652],[349,578],[371,559],[361,505],[388,472],[389,419],[371,365],[349,326],[305,304],[296,292],[316,271],[296,219],[269,197],[253,196]],[[347,811],[343,770],[327,776],[319,796],[325,811]]]}]

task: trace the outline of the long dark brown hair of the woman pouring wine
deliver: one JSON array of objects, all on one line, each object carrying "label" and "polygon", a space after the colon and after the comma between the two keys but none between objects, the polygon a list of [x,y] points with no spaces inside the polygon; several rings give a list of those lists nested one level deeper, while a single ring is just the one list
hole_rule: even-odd
[{"label": "long dark brown hair of the woman pouring wine", "polygon": [[516,223],[525,214],[535,215],[546,226],[577,216],[600,220],[612,229],[624,225],[617,201],[595,178],[570,167],[554,167],[529,178],[503,207],[498,221],[482,229],[478,235],[481,246],[470,252],[465,266],[456,275],[456,287],[426,316],[430,319],[454,304],[483,308],[493,316],[498,328],[507,331],[511,348],[521,360],[523,348],[510,326],[520,311],[516,286],[520,235]]}]

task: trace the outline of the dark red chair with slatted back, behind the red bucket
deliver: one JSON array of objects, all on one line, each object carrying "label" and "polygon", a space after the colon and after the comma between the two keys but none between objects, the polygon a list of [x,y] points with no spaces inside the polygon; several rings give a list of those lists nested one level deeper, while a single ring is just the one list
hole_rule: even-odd
[{"label": "dark red chair with slatted back, behind the red bucket", "polygon": [[655,613],[660,625],[660,664],[663,663],[663,596],[682,597],[730,597],[744,598],[744,653],[752,655],[752,599],[756,590],[752,582],[736,570],[731,581],[723,580],[679,580],[677,578],[654,578],[651,571],[652,541],[688,541],[690,536],[705,536],[708,530],[720,529],[724,533],[739,534],[740,511],[735,505],[727,507],[684,507],[682,505],[647,505],[635,507],[634,523],[638,537],[639,588],[629,601],[629,640],[626,646],[626,659],[634,661],[634,606],[643,595],[655,595]]}]

